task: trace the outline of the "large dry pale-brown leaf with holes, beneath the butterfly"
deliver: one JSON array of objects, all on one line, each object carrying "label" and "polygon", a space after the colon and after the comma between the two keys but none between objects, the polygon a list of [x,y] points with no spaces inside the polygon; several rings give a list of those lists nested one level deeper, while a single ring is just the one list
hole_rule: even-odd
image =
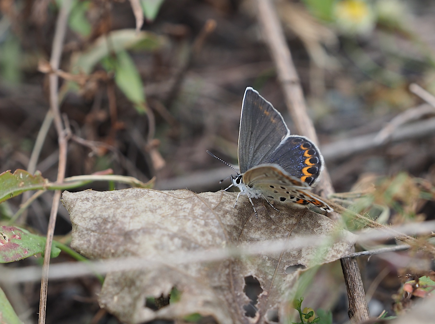
[{"label": "large dry pale-brown leaf with holes, beneath the butterfly", "polygon": [[[259,199],[254,201],[256,219],[246,197],[233,209],[236,195],[139,188],[65,191],[62,199],[73,224],[71,246],[90,258],[140,256],[153,260],[178,251],[194,254],[250,247],[268,240],[290,244],[278,252],[265,245],[251,255],[218,262],[167,260],[165,267],[110,273],[99,295],[100,306],[125,323],[182,319],[194,313],[212,316],[221,324],[264,323],[268,311],[278,311],[284,319],[291,311],[292,288],[303,271],[286,274],[286,269],[331,262],[351,252],[355,236],[338,229],[328,217],[284,205],[277,206],[278,212]],[[305,238],[298,247],[292,243],[297,237]],[[325,238],[328,243],[321,243]],[[250,301],[244,292],[249,276],[263,289],[254,318],[246,317],[244,310]],[[165,296],[172,287],[181,292],[179,301],[158,311],[145,307],[147,297]]]}]

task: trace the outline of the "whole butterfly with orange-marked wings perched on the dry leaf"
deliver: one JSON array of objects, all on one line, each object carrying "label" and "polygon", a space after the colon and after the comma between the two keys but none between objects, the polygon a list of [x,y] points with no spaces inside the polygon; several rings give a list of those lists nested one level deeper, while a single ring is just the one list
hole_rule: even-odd
[{"label": "whole butterfly with orange-marked wings perched on the dry leaf", "polygon": [[225,190],[238,187],[236,204],[241,195],[248,196],[256,217],[252,198],[261,197],[275,210],[271,201],[333,211],[310,192],[324,168],[318,147],[305,136],[291,135],[279,111],[251,87],[243,97],[238,160],[241,174],[231,175]]}]

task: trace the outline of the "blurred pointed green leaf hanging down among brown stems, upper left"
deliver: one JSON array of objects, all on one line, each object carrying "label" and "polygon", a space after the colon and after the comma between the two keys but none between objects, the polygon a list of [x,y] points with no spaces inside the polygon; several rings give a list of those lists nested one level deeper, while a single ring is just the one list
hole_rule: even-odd
[{"label": "blurred pointed green leaf hanging down among brown stems, upper left", "polygon": [[145,113],[144,84],[142,84],[141,76],[137,72],[133,60],[125,50],[118,52],[116,57],[115,83],[128,100],[134,103],[137,112]]}]

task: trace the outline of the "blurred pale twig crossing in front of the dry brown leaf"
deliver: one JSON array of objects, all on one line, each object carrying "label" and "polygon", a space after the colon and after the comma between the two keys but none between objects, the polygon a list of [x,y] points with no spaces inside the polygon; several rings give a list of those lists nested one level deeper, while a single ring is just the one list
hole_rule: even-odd
[{"label": "blurred pale twig crossing in front of the dry brown leaf", "polygon": [[[395,232],[404,230],[402,235],[424,235],[435,230],[434,221],[426,221],[419,224],[415,224],[415,227],[409,229],[407,226],[391,227],[393,232],[388,233],[383,229],[371,230],[376,235],[368,234],[367,232],[362,233],[357,242],[368,243],[382,240],[390,240],[395,237]],[[325,242],[330,244],[329,238],[324,237],[326,240],[312,240],[310,237],[294,237],[290,240],[266,240],[254,244],[248,244],[238,247],[217,247],[208,248],[204,250],[194,250],[194,251],[177,251],[174,254],[162,254],[160,256],[156,255],[153,257],[119,257],[110,258],[107,260],[96,260],[90,261],[87,264],[64,262],[60,264],[54,264],[50,269],[51,278],[71,278],[71,277],[81,277],[95,272],[109,273],[113,271],[124,271],[124,270],[134,270],[134,269],[154,269],[156,267],[167,266],[171,264],[172,266],[178,264],[193,264],[193,263],[203,263],[203,262],[216,262],[228,260],[229,258],[237,256],[250,256],[268,253],[277,253],[281,251],[288,251],[288,249],[294,250],[301,247],[321,247],[325,246]],[[290,242],[290,244],[289,244]],[[398,245],[398,247],[402,247]],[[379,251],[381,249],[375,249],[372,251]],[[370,251],[368,251],[370,252]],[[390,252],[385,249],[385,252]],[[349,255],[351,257],[353,254]],[[355,255],[354,257],[358,257]],[[20,267],[17,269],[2,269],[2,276],[0,277],[0,282],[29,282],[36,281],[40,277],[40,267],[39,266],[27,266]]]}]

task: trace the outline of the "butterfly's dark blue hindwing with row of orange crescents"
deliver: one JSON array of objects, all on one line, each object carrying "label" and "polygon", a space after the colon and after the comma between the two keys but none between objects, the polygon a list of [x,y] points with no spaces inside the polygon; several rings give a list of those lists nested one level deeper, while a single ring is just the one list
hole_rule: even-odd
[{"label": "butterfly's dark blue hindwing with row of orange crescents", "polygon": [[314,187],[323,170],[323,157],[316,145],[305,136],[290,135],[265,158],[278,164],[288,174]]}]

